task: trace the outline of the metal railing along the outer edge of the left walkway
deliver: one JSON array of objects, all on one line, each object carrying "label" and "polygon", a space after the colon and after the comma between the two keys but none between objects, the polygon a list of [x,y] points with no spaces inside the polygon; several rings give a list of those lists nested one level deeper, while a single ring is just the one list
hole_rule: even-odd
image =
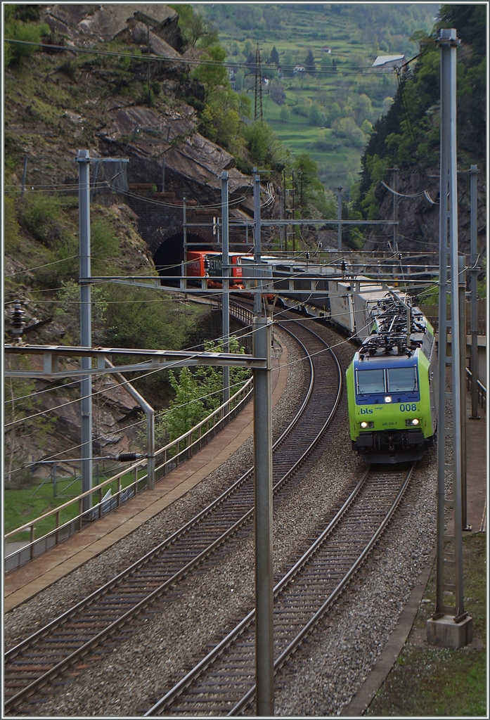
[{"label": "metal railing along the outer edge of the left walkway", "polygon": [[[191,428],[191,430],[183,433],[183,435],[156,451],[155,480],[160,480],[162,477],[165,477],[165,475],[176,468],[178,464],[189,459],[194,453],[199,451],[201,447],[214,438],[214,436],[222,430],[224,426],[230,423],[230,420],[235,418],[240,410],[245,407],[250,397],[252,397],[252,392],[253,378],[250,377],[250,379],[242,385],[240,390],[230,397],[230,400],[224,402],[216,410],[213,410],[207,418],[201,420],[194,428]],[[158,462],[160,462],[160,464],[158,464]],[[23,544],[21,548],[11,554],[6,555],[5,572],[21,567],[26,562],[29,562],[80,531],[87,523],[101,518],[111,510],[119,508],[122,503],[130,500],[130,498],[134,498],[142,492],[142,490],[145,490],[148,487],[148,474],[145,473],[141,477],[138,477],[138,471],[141,472],[145,464],[146,459],[139,460],[129,468],[104,480],[100,485],[86,490],[86,492],[81,493],[81,495],[77,495],[76,498],[72,498],[68,500],[68,502],[63,503],[63,505],[58,505],[58,508],[49,510],[34,520],[24,523],[24,525],[15,530],[6,533],[4,535],[4,544],[6,544],[6,541],[9,539],[23,532],[30,533],[30,541],[27,542],[27,544]],[[134,473],[135,479],[123,487],[123,477],[131,472]],[[117,482],[117,490],[113,493],[112,487],[110,486],[114,484],[114,482]],[[104,490],[106,491],[105,495],[103,495]],[[83,498],[87,497],[92,499],[95,497],[96,504],[93,505],[90,510],[83,512]],[[71,517],[65,522],[61,522],[61,513],[63,513],[63,510],[73,508],[73,505],[76,506],[77,504],[78,513],[76,516]],[[53,518],[54,527],[36,539],[36,526],[39,526],[42,521],[47,521],[50,518]]]}]

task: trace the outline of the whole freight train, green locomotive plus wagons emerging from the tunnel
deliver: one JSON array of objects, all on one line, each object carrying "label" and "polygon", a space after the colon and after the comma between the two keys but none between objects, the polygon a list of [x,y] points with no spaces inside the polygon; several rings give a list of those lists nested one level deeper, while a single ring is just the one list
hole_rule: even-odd
[{"label": "whole freight train, green locomotive plus wagons emerging from the tunnel", "polygon": [[[213,275],[221,276],[221,254],[201,253],[206,254],[207,275],[214,264]],[[258,271],[253,256],[230,253],[230,266],[235,289],[246,292],[261,282],[266,297],[278,296],[283,307],[325,319],[360,343],[346,382],[350,438],[365,462],[419,459],[435,444],[434,330],[407,294],[351,276],[343,262],[328,266],[262,256]]]}]

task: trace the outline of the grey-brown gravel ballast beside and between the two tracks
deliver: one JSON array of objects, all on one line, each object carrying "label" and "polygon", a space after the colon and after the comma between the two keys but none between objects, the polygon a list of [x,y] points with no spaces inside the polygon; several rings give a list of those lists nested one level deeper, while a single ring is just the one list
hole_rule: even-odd
[{"label": "grey-brown gravel ballast beside and between the two tracks", "polygon": [[[319,334],[330,330],[317,326]],[[294,347],[288,343],[289,359]],[[342,365],[353,354],[352,346],[339,348]],[[297,356],[297,354],[296,354]],[[291,414],[296,388],[301,383],[300,364],[290,366],[287,391],[276,408],[276,416]],[[345,396],[345,393],[344,393]],[[280,422],[280,420],[276,420]],[[353,477],[359,477],[363,464],[353,454],[348,432],[345,397],[337,413],[335,438],[326,437],[309,461],[310,472],[301,489],[281,503],[274,512],[274,571],[291,564],[304,541],[332,516],[340,496],[345,497]],[[246,446],[246,447],[245,447]],[[249,462],[251,443],[230,459],[229,467]],[[93,582],[97,572],[108,577],[107,567],[118,567],[122,558],[136,557],[150,549],[179,524],[191,517],[219,489],[230,482],[223,468],[199,487],[174,503],[158,518],[145,523],[124,546],[115,546],[94,559],[53,588],[33,598],[9,615],[9,636],[22,634],[32,626],[37,603],[44,620],[49,603],[63,593],[59,602],[67,605],[76,598],[81,583]],[[215,477],[216,476],[216,477]],[[209,493],[209,494],[208,494]],[[189,497],[188,497],[189,496]],[[276,715],[325,716],[340,714],[358,685],[362,683],[388,639],[404,601],[423,567],[435,536],[435,453],[419,462],[403,507],[396,513],[392,528],[375,555],[353,580],[350,593],[330,616],[322,621],[311,639],[296,653],[292,670],[278,677]],[[118,565],[119,564],[119,565]],[[125,563],[127,564],[127,562]],[[89,567],[90,566],[90,567]],[[109,572],[109,576],[111,570]],[[104,579],[102,578],[102,579]],[[97,577],[101,581],[100,575]],[[84,588],[84,592],[88,590]],[[199,572],[189,575],[165,600],[155,604],[154,614],[144,616],[127,642],[110,644],[73,673],[73,681],[45,691],[45,716],[131,716],[145,712],[201,657],[207,643],[222,637],[253,606],[253,539],[237,544],[231,554],[217,555],[203,582]],[[39,616],[38,616],[39,617]],[[9,619],[9,618],[8,618]],[[27,714],[29,709],[25,709]],[[251,711],[252,712],[252,711]]]}]

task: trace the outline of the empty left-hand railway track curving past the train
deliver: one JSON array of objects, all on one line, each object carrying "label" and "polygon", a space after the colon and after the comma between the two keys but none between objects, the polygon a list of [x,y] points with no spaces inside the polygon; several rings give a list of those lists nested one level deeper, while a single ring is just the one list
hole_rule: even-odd
[{"label": "empty left-hand railway track curving past the train", "polygon": [[[292,477],[294,482],[301,481],[298,469],[329,425],[342,388],[340,365],[332,351],[327,351],[325,341],[301,323],[294,325],[296,340],[308,357],[310,379],[299,412],[273,446],[276,503],[291,492]],[[292,334],[289,328],[283,329]],[[304,342],[309,345],[308,351]],[[332,383],[332,372],[336,383]],[[191,570],[210,558],[212,562],[219,546],[232,536],[250,531],[252,517],[253,469],[250,469],[145,557],[6,652],[5,711],[16,710],[24,698],[109,636],[117,635]]]}]

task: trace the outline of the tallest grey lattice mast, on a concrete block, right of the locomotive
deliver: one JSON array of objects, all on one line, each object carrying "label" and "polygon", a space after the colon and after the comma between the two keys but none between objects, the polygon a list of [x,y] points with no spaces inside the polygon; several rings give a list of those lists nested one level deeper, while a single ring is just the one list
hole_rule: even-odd
[{"label": "tallest grey lattice mast, on a concrete block, right of the locomotive", "polygon": [[[439,406],[437,409],[437,571],[435,612],[427,620],[427,642],[463,647],[472,639],[473,621],[463,604],[461,535],[461,387],[458,312],[458,188],[456,170],[456,48],[454,29],[440,30],[440,228],[439,228]],[[448,261],[450,282],[448,282]],[[450,295],[450,322],[447,297]],[[448,356],[448,330],[451,355]],[[446,391],[446,367],[451,388]],[[449,410],[449,412],[447,412]],[[446,443],[450,438],[450,446]],[[452,476],[451,486],[446,479]],[[452,495],[452,497],[450,497]],[[452,510],[453,535],[445,510]],[[449,604],[445,593],[452,593]]]}]

